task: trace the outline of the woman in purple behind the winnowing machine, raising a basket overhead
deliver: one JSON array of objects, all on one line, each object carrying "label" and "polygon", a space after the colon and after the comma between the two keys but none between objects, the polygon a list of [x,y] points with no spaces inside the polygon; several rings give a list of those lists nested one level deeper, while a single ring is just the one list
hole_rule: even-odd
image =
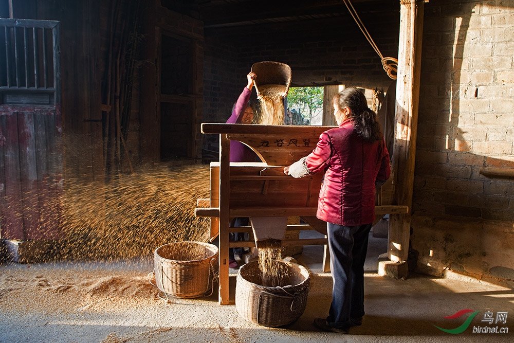
[{"label": "woman in purple behind the winnowing machine, raising a basket overhead", "polygon": [[[243,92],[237,98],[232,108],[232,115],[227,120],[227,124],[251,124],[254,115],[254,109],[250,100],[252,94],[253,80],[257,76],[250,71],[246,76],[248,84],[243,88]],[[237,140],[230,141],[230,161],[231,162],[255,162],[257,155],[247,145]],[[248,226],[248,218],[234,218],[230,222],[230,227]],[[244,233],[230,233],[231,240],[244,240]],[[230,268],[237,268],[238,264],[234,254],[242,256],[245,253],[244,248],[233,248],[229,251],[228,265]]]}]

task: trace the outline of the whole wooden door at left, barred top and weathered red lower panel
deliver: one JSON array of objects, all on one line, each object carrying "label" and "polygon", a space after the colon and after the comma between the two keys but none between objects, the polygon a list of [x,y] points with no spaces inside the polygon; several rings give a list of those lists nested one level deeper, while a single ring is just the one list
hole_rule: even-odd
[{"label": "whole wooden door at left, barred top and weathered red lower panel", "polygon": [[59,22],[0,19],[0,238],[61,238]]}]

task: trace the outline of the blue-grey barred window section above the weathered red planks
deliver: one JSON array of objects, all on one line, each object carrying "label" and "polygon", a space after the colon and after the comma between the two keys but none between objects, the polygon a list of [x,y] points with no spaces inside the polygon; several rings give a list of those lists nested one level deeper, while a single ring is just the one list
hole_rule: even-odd
[{"label": "blue-grey barred window section above the weathered red planks", "polygon": [[59,22],[0,19],[0,103],[60,103],[59,40]]}]

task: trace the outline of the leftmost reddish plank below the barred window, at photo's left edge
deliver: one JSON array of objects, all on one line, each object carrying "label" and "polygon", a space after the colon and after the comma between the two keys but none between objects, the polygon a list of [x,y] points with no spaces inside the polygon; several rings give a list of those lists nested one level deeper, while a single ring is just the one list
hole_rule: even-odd
[{"label": "leftmost reddish plank below the barred window, at photo's left edge", "polygon": [[5,136],[5,212],[0,223],[1,237],[23,240],[22,188],[20,183],[20,148],[18,142],[17,113],[2,113],[2,132]]}]

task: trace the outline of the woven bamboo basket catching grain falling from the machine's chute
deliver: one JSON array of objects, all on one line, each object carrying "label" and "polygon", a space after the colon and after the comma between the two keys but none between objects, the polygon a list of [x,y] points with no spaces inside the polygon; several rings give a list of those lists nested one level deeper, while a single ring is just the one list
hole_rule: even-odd
[{"label": "woven bamboo basket catching grain falling from the machine's chute", "polygon": [[[277,261],[279,262],[279,261]],[[237,273],[235,305],[246,320],[277,328],[296,321],[305,311],[310,290],[308,270],[299,264],[283,262],[288,270],[279,285],[261,285],[258,262],[243,265]]]}]

